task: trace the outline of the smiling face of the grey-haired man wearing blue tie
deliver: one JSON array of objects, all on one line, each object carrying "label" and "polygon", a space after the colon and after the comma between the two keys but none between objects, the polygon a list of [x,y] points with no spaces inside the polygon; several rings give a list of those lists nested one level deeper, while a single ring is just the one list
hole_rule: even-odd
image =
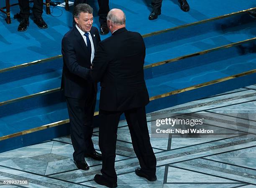
[{"label": "smiling face of the grey-haired man wearing blue tie", "polygon": [[88,32],[92,28],[93,15],[89,13],[80,13],[79,18],[74,18],[77,26],[83,31]]}]

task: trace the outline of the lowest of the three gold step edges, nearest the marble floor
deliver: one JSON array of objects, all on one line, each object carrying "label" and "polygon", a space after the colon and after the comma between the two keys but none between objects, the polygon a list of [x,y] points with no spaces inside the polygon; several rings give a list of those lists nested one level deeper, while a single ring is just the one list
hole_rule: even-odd
[{"label": "lowest of the three gold step edges, nearest the marble floor", "polygon": [[[197,89],[197,88],[202,88],[202,87],[205,87],[205,86],[208,86],[208,85],[213,85],[215,83],[220,83],[220,82],[223,82],[223,81],[226,81],[226,80],[231,80],[231,79],[234,79],[234,78],[239,78],[239,77],[242,77],[242,76],[245,76],[245,75],[250,75],[250,74],[253,74],[253,73],[256,73],[256,69],[249,70],[249,71],[246,71],[244,73],[239,73],[239,74],[236,74],[236,75],[220,78],[220,79],[217,79],[217,80],[212,80],[212,81],[209,81],[209,82],[193,85],[193,86],[190,86],[190,87],[187,87],[187,88],[171,91],[169,93],[164,93],[164,94],[161,94],[161,95],[156,95],[154,97],[151,97],[150,101],[151,100],[156,100],[156,99],[159,99],[159,98],[165,98],[165,97],[168,97],[170,95],[175,95],[175,94],[178,94],[178,93],[183,93],[185,91],[194,90],[194,89]],[[99,115],[99,111],[96,111],[94,113],[94,116],[96,116],[96,115]],[[5,136],[0,137],[0,141],[6,140],[6,139],[9,139],[9,138],[14,138],[14,137],[21,136],[21,135],[25,135],[25,134],[28,134],[28,133],[33,133],[33,132],[36,132],[36,131],[39,131],[39,130],[43,130],[43,129],[46,129],[46,128],[51,128],[51,127],[63,125],[65,123],[69,123],[69,119],[57,121],[57,122],[46,124],[46,125],[42,125],[40,127],[36,127],[36,128],[28,129],[28,130],[23,130],[23,131],[20,131],[18,133],[13,133],[13,134],[10,134],[10,135],[5,135]]]}]

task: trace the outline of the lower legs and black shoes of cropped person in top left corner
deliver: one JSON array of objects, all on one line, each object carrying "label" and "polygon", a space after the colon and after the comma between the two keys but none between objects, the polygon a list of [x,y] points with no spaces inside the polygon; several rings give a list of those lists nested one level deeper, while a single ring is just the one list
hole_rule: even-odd
[{"label": "lower legs and black shoes of cropped person in top left corner", "polygon": [[[29,25],[29,0],[19,0],[20,5],[20,24],[18,26],[18,31],[26,31]],[[43,0],[34,0],[33,1],[33,15],[34,23],[38,28],[46,29],[48,25],[42,18],[43,14]]]}]

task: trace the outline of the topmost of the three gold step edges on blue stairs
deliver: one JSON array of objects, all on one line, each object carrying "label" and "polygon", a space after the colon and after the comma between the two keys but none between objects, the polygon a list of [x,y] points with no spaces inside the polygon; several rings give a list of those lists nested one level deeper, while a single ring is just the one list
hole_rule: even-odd
[{"label": "topmost of the three gold step edges on blue stairs", "polygon": [[[147,38],[147,37],[151,37],[153,35],[159,35],[159,34],[162,34],[162,33],[167,33],[167,32],[172,31],[172,30],[178,30],[178,29],[186,28],[186,27],[189,27],[189,26],[192,26],[192,25],[199,25],[199,24],[202,24],[202,23],[210,22],[210,21],[220,20],[220,19],[223,19],[223,18],[231,17],[233,15],[238,15],[238,14],[241,14],[241,13],[245,13],[245,12],[250,11],[250,10],[256,10],[256,8],[249,8],[249,9],[246,9],[246,10],[240,10],[240,11],[235,12],[235,13],[220,15],[220,16],[209,18],[209,19],[206,19],[206,20],[200,20],[200,21],[193,22],[193,23],[179,25],[179,26],[176,26],[176,27],[173,27],[173,28],[168,28],[168,29],[164,29],[164,30],[155,31],[155,32],[152,32],[152,33],[147,33],[147,34],[142,35],[142,37]],[[35,61],[29,62],[29,63],[20,64],[20,65],[15,65],[13,67],[0,69],[0,73],[7,72],[7,71],[10,71],[10,70],[15,70],[15,69],[18,69],[18,68],[27,67],[27,66],[30,66],[30,65],[36,65],[36,64],[39,64],[39,63],[44,63],[44,62],[54,60],[54,59],[58,59],[58,58],[61,58],[61,57],[62,57],[62,55],[56,55],[56,56],[53,56],[53,57],[50,57],[50,58],[35,60]]]}]

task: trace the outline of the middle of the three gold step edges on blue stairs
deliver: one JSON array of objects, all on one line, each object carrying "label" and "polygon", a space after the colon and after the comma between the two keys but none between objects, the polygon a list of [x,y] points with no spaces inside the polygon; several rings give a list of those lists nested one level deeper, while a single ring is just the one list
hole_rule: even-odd
[{"label": "middle of the three gold step edges on blue stairs", "polygon": [[[160,61],[160,62],[157,62],[157,63],[152,63],[150,65],[145,65],[143,67],[143,69],[148,69],[148,68],[153,68],[153,67],[160,66],[160,65],[165,65],[167,63],[172,63],[172,62],[175,62],[175,61],[178,61],[178,60],[191,58],[191,57],[198,56],[198,55],[203,55],[203,54],[206,54],[206,53],[211,53],[213,51],[221,50],[221,49],[224,49],[224,48],[231,48],[231,47],[241,45],[241,44],[244,44],[244,43],[250,43],[254,40],[256,40],[256,37],[251,38],[251,39],[247,39],[247,40],[238,41],[236,43],[231,43],[231,44],[228,44],[228,45],[219,46],[219,47],[216,47],[216,48],[211,48],[211,49],[204,50],[204,51],[197,52],[197,53],[184,55],[184,56],[181,56],[181,57],[178,57],[178,58],[173,58],[173,59],[169,59],[169,60]],[[57,92],[59,90],[60,90],[60,88],[54,88],[54,89],[51,89],[51,90],[45,90],[45,91],[41,91],[41,92],[38,92],[38,93],[34,93],[32,95],[26,95],[26,96],[23,96],[23,97],[6,100],[6,101],[3,101],[3,102],[0,102],[0,106],[7,105],[7,104],[10,104],[10,103],[15,103],[15,102],[18,102],[20,100],[26,100],[26,99],[29,99],[29,98],[37,97],[37,96],[40,96],[40,95],[46,95],[46,94],[49,94],[49,93],[54,93],[54,92]]]}]

